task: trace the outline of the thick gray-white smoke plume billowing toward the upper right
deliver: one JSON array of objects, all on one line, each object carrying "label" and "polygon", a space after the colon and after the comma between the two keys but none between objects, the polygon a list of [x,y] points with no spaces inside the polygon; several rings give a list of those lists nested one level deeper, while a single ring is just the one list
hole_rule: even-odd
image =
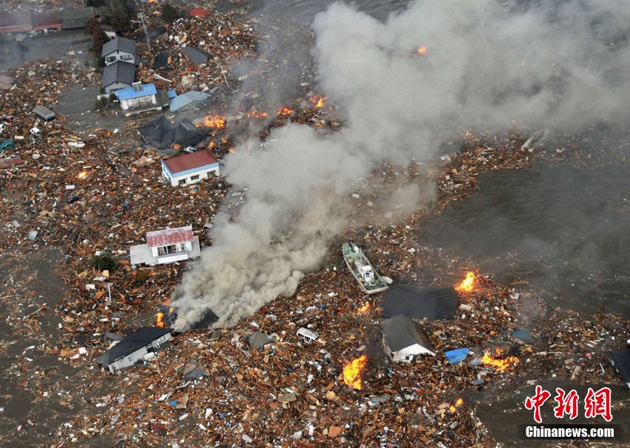
[{"label": "thick gray-white smoke plume billowing toward the upper right", "polygon": [[293,294],[344,228],[353,183],[385,160],[427,158],[438,133],[627,120],[630,3],[543,3],[416,1],[384,22],[343,3],[319,14],[321,89],[348,124],[329,137],[288,125],[266,151],[248,142],[227,158],[247,203],[216,218],[214,245],[175,293],[176,329],[207,309],[233,325]]}]

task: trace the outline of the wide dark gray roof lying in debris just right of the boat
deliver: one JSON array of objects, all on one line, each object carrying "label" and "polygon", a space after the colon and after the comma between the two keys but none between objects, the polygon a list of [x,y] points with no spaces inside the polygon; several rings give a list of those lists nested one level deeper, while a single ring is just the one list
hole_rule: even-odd
[{"label": "wide dark gray roof lying in debris just right of the boat", "polygon": [[456,308],[457,292],[452,286],[392,285],[385,293],[381,316],[453,319]]}]

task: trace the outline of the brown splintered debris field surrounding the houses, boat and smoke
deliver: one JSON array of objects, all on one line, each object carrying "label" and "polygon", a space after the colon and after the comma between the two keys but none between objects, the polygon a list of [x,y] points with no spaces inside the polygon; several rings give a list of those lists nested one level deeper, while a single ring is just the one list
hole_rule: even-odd
[{"label": "brown splintered debris field surrounding the houses, boat and smoke", "polygon": [[[159,24],[157,18],[151,20]],[[230,63],[255,55],[255,23],[239,20],[215,14],[207,20],[177,22],[168,31],[181,43],[212,52],[228,69]],[[164,81],[144,66],[138,74],[143,81],[181,91],[204,85],[224,89],[228,82],[230,89],[246,85],[246,77],[226,80],[218,65],[193,67],[168,41],[155,43],[151,50],[139,47],[146,60],[169,50],[177,67],[158,73],[169,80]],[[35,104],[54,106],[69,80],[92,85],[99,82],[99,73],[41,59],[7,74],[17,88],[0,97],[1,113],[13,117],[3,137],[23,138],[15,139],[15,146],[0,158],[0,163],[20,160],[2,165],[0,174],[0,309],[13,333],[0,346],[12,356],[3,373],[7,384],[29,393],[36,406],[12,414],[19,427],[3,432],[0,442],[32,435],[43,437],[36,440],[50,447],[213,447],[219,442],[255,447],[486,447],[496,442],[475,413],[479,396],[498,400],[550,376],[582,383],[619,382],[607,353],[627,338],[627,316],[585,317],[569,309],[549,309],[535,290],[500,285],[491,272],[477,272],[474,288],[459,293],[454,320],[421,321],[437,356],[393,365],[379,349],[379,336],[374,337],[379,335],[382,294],[364,295],[346,272],[339,248],[342,240],[352,239],[360,241],[379,272],[394,281],[456,285],[475,266],[419,246],[413,233],[419,218],[474,192],[478,176],[490,170],[518,169],[535,160],[575,163],[584,169],[628,162],[623,158],[627,153],[620,160],[616,151],[608,152],[612,146],[627,145],[621,137],[591,141],[588,132],[555,136],[552,143],[528,151],[521,149],[528,136],[516,129],[500,135],[471,130],[447,137],[458,151],[441,159],[381,165],[372,179],[348,192],[372,219],[365,224],[365,216],[350,216],[357,225],[331,241],[325,265],[309,274],[295,295],[279,297],[235,328],[176,335],[155,358],[112,376],[95,361],[109,347],[104,333],[125,334],[139,325],[153,325],[160,305],[190,263],[132,266],[130,246],[141,244],[148,231],[189,224],[202,246],[209,245],[207,227],[218,207],[239,207],[244,194],[230,189],[224,179],[169,186],[162,177],[161,155],[137,136],[141,118],[128,120],[122,129],[91,128],[80,134],[66,129],[64,116],[58,115],[50,123],[35,123],[42,134],[31,136]],[[265,71],[257,74],[264,77]],[[321,132],[339,130],[342,123],[332,106],[323,107],[323,96],[311,90],[313,75],[304,65],[302,90],[282,104],[261,104],[244,92],[240,109],[235,109],[228,104],[234,96],[227,92],[232,90],[218,95],[202,111],[232,113],[226,128],[202,127],[216,155],[221,158],[230,151],[230,131],[247,120],[263,120],[262,127],[251,127],[261,137],[288,121]],[[252,111],[267,116],[252,116]],[[584,148],[602,151],[591,156]],[[435,200],[412,212],[383,211],[379,204],[391,196],[401,177],[436,186]],[[626,203],[618,205],[627,208]],[[45,297],[45,281],[39,278],[40,258],[50,248],[61,253],[48,259],[50,271],[64,283],[55,303]],[[106,250],[116,263],[96,269],[93,255]],[[29,259],[40,260],[36,272],[29,271]],[[37,286],[34,279],[43,284]],[[532,314],[538,316],[533,322],[528,318]],[[296,335],[301,327],[319,332],[321,341],[303,342]],[[253,330],[273,335],[275,344],[265,351],[249,350],[245,337]],[[33,348],[13,353],[10,347],[22,339],[33,341]],[[463,347],[473,354],[451,365],[444,351]],[[58,363],[36,365],[31,351]],[[341,379],[342,368],[362,353],[370,359],[363,386],[350,389]],[[484,362],[484,353],[494,365]],[[66,376],[66,381],[57,381],[62,368],[71,369],[71,380]],[[193,371],[196,378],[189,375]],[[8,407],[16,405],[15,393],[3,394],[1,412],[8,413]],[[62,414],[52,428],[36,410],[50,402],[82,410]],[[613,413],[626,406],[627,400],[615,400]]]}]

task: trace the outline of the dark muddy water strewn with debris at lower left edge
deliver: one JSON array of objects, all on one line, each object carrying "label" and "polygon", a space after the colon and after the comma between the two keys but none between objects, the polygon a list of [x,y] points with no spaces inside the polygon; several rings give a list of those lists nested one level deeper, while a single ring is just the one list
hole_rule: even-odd
[{"label": "dark muddy water strewn with debris at lower left edge", "polygon": [[[62,337],[55,312],[65,293],[54,272],[60,262],[62,255],[54,249],[24,257],[0,256],[2,447],[49,446],[51,434],[85,410],[86,397],[76,390],[86,385],[88,371],[49,352]],[[45,310],[25,318],[41,305]]]}]

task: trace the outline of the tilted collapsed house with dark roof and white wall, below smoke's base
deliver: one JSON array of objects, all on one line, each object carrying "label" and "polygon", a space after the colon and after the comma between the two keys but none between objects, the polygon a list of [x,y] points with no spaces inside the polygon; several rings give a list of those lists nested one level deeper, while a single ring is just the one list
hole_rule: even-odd
[{"label": "tilted collapsed house with dark roof and white wall, below smoke's base", "polygon": [[97,359],[97,363],[111,373],[132,367],[144,359],[155,356],[160,346],[171,339],[170,328],[142,327],[120,339]]}]

